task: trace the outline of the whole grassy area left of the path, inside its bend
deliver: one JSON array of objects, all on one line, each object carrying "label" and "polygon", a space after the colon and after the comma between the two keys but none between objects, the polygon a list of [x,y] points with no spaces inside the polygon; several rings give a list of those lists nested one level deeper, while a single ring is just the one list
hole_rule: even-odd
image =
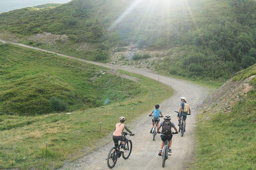
[{"label": "whole grassy area left of the path, inside its bend", "polygon": [[[98,71],[107,69],[17,45],[1,44],[0,56],[0,157],[5,157],[0,158],[1,169],[24,169],[23,157],[26,157],[26,169],[60,167],[63,160],[76,159],[104,145],[102,137],[114,130],[120,116],[126,118],[129,126],[135,118],[150,112],[155,103],[161,103],[174,92],[141,75],[120,70],[139,78],[134,82],[108,73],[100,74]],[[95,75],[100,77],[90,82],[88,79]],[[63,113],[49,110],[48,114],[19,116],[24,114],[19,114],[20,111],[16,114],[14,110],[20,105],[28,108],[34,101],[47,102],[49,96],[56,95],[64,103],[72,102],[67,97],[71,93],[77,102],[76,108],[73,103],[70,105],[71,114],[66,114],[69,110]],[[109,103],[101,107],[88,105],[96,105],[94,101],[101,101],[100,97],[108,97]],[[47,105],[35,102],[32,106],[36,106],[35,111],[42,109],[43,112]],[[48,141],[46,164],[45,141]]]}]

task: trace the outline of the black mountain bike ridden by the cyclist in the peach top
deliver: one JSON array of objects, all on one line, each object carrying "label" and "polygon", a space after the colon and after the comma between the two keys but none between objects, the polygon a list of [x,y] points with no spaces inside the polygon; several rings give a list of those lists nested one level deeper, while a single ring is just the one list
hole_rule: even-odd
[{"label": "black mountain bike ridden by the cyclist in the peach top", "polygon": [[[132,134],[123,132],[122,133],[124,136],[126,135],[130,135],[132,136]],[[109,152],[108,152],[108,158],[107,158],[107,165],[109,168],[113,168],[116,164],[117,159],[119,159],[122,155],[122,157],[124,159],[128,159],[129,156],[131,155],[132,152],[132,141],[128,140],[127,138],[125,139],[125,143],[124,143],[124,152],[120,151],[121,148],[121,144],[122,141],[120,141],[119,145],[117,147],[113,146]]]}]

